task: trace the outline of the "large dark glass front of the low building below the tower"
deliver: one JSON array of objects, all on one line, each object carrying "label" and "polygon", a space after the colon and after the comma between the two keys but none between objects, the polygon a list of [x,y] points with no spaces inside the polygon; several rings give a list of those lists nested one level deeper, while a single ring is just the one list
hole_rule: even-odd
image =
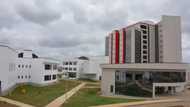
[{"label": "large dark glass front of the low building below the tower", "polygon": [[[185,82],[183,71],[131,71],[115,72],[115,93],[130,96],[152,96],[153,83]],[[168,88],[170,91],[170,88]],[[165,88],[156,88],[156,93],[163,93]]]}]

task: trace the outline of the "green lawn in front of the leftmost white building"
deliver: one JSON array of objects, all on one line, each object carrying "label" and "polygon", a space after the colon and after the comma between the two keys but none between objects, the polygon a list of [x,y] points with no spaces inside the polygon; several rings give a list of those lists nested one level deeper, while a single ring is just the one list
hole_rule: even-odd
[{"label": "green lawn in front of the leftmost white building", "polygon": [[44,87],[22,85],[17,87],[11,94],[5,97],[37,107],[42,107],[74,88],[78,84],[80,84],[80,82],[62,80],[56,84]]}]

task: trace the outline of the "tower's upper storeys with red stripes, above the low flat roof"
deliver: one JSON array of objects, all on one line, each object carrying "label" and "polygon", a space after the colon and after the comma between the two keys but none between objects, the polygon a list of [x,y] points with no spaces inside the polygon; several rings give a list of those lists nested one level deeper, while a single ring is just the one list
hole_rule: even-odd
[{"label": "tower's upper storeys with red stripes, above the low flat roof", "polygon": [[180,17],[162,16],[156,24],[144,21],[114,30],[106,37],[110,63],[181,62],[180,29]]}]

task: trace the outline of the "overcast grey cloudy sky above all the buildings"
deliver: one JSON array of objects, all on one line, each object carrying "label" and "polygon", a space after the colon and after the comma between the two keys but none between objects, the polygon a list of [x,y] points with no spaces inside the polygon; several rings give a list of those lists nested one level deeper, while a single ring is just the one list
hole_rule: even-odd
[{"label": "overcast grey cloudy sky above all the buildings", "polygon": [[114,29],[161,15],[182,19],[183,62],[190,62],[189,0],[0,0],[0,42],[40,56],[104,55]]}]

